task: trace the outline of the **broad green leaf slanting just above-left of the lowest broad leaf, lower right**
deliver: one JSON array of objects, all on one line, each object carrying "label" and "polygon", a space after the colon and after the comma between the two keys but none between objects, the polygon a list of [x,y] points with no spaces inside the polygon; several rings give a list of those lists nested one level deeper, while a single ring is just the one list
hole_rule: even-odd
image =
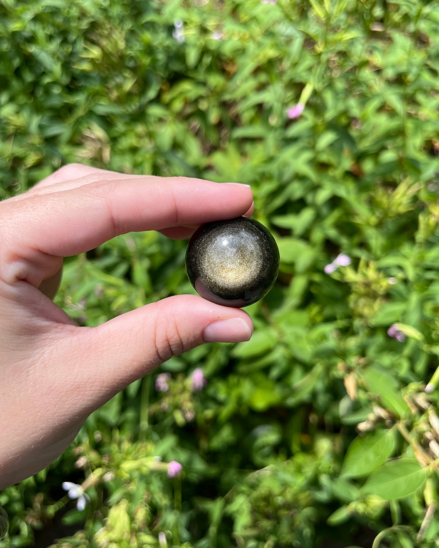
[{"label": "broad green leaf slanting just above-left of the lowest broad leaf, lower right", "polygon": [[341,475],[358,477],[369,474],[384,464],[394,449],[393,429],[357,436],[347,450]]}]

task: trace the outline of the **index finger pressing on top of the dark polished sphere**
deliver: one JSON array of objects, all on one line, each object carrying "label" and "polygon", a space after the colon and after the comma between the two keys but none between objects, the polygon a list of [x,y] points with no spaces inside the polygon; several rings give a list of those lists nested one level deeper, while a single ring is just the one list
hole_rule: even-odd
[{"label": "index finger pressing on top of the dark polished sphere", "polygon": [[0,276],[8,283],[22,279],[38,287],[53,274],[44,256],[84,253],[131,231],[232,219],[245,214],[251,204],[247,185],[185,177],[121,176],[30,195],[10,204],[1,216]]}]

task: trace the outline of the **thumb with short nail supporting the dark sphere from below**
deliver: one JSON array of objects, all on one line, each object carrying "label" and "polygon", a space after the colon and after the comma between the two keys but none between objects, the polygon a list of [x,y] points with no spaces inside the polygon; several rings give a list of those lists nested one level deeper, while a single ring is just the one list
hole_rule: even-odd
[{"label": "thumb with short nail supporting the dark sphere from below", "polygon": [[89,411],[172,356],[204,342],[247,341],[252,332],[243,310],[196,295],[168,297],[98,327],[75,327],[72,338],[67,336],[68,353],[75,357],[69,391],[78,383]]}]

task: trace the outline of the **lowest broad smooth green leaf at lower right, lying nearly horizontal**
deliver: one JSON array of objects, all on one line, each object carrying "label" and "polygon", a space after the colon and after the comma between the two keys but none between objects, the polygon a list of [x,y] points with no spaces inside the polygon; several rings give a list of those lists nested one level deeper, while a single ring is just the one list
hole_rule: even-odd
[{"label": "lowest broad smooth green leaf at lower right, lying nearly horizontal", "polygon": [[391,460],[369,476],[362,490],[386,500],[402,499],[424,483],[425,475],[425,469],[415,459]]}]

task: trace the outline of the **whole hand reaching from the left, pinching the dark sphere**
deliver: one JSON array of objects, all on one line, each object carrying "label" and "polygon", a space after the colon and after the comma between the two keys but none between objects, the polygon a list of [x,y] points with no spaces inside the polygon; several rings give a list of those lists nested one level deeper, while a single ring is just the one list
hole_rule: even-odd
[{"label": "whole hand reaching from the left, pinching the dark sphere", "polygon": [[194,295],[79,327],[50,300],[63,257],[130,231],[189,238],[202,222],[251,211],[245,185],[78,164],[0,203],[0,489],[50,464],[90,413],[171,356],[252,333],[243,310]]}]

